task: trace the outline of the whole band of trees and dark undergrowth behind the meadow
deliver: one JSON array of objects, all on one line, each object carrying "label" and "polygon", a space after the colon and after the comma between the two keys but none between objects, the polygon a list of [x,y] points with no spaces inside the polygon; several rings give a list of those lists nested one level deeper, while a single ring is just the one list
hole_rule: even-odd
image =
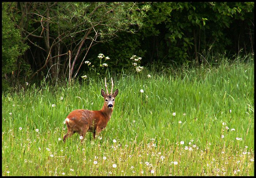
[{"label": "whole band of trees and dark undergrowth behind the meadow", "polygon": [[254,2],[2,2],[2,90],[70,83],[101,74],[103,62],[118,73],[133,55],[142,66],[179,67],[250,53]]}]

